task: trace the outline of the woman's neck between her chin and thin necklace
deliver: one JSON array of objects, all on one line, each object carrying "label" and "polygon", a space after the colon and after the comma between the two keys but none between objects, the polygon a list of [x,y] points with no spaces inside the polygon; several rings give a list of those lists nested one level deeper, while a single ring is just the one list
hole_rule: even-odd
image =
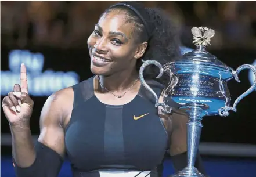
[{"label": "woman's neck between her chin and thin necklace", "polygon": [[135,82],[139,79],[138,76],[137,71],[132,71],[131,73],[116,73],[107,77],[100,75],[98,79],[102,89],[107,89],[107,91],[111,92],[122,92],[135,85]]}]

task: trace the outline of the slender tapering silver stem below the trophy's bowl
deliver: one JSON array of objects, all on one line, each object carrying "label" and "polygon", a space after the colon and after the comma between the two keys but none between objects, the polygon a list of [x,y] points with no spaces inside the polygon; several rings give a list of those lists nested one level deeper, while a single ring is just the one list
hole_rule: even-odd
[{"label": "slender tapering silver stem below the trophy's bowl", "polygon": [[187,123],[188,168],[194,167],[199,149],[201,129],[203,128],[200,113],[200,107],[191,107],[189,111],[189,122]]}]

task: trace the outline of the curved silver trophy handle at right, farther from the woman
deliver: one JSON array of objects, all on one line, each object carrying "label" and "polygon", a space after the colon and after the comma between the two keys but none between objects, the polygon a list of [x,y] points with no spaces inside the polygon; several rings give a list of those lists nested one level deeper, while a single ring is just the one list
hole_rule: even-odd
[{"label": "curved silver trophy handle at right, farther from the woman", "polygon": [[229,107],[229,106],[221,107],[221,109],[219,109],[219,115],[228,116],[229,115],[229,112],[228,112],[229,110],[232,110],[232,111],[236,112],[236,106],[240,102],[240,100],[243,99],[244,97],[246,97],[247,95],[249,95],[251,92],[253,92],[254,88],[256,88],[256,66],[253,66],[253,65],[250,65],[250,64],[243,64],[243,65],[239,66],[236,69],[236,71],[232,72],[232,74],[235,76],[235,80],[237,82],[240,82],[240,80],[238,78],[238,74],[240,73],[241,70],[244,70],[244,69],[253,70],[253,73],[255,75],[255,81],[254,81],[253,85],[246,92],[244,92],[242,95],[237,97],[237,99],[235,100],[235,102],[233,104],[233,107]]}]

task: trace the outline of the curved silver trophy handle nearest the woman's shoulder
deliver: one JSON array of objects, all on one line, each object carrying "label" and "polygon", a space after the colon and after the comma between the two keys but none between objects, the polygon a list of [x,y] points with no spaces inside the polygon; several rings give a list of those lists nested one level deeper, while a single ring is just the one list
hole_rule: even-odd
[{"label": "curved silver trophy handle nearest the woman's shoulder", "polygon": [[142,64],[142,66],[139,69],[139,78],[140,78],[140,81],[141,81],[142,85],[145,86],[145,88],[150,93],[152,93],[154,98],[156,99],[156,104],[154,105],[155,107],[161,106],[161,107],[163,107],[163,109],[161,111],[163,111],[164,113],[171,113],[172,108],[170,106],[168,106],[167,104],[159,103],[158,102],[159,97],[157,97],[156,92],[154,92],[153,89],[150,88],[150,86],[146,83],[146,81],[145,81],[145,79],[143,77],[143,71],[145,70],[145,68],[147,66],[153,64],[153,65],[156,65],[159,68],[160,73],[157,75],[156,78],[160,78],[163,75],[163,73],[164,73],[163,66],[159,62],[157,62],[156,60],[146,60],[146,61],[142,60],[142,62],[143,62],[143,64]]}]

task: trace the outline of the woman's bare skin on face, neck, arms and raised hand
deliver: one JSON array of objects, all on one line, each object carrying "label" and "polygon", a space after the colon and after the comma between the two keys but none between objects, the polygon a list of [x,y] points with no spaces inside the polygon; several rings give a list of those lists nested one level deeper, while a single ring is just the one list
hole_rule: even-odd
[{"label": "woman's bare skin on face, neck, arms and raised hand", "polygon": [[[111,62],[103,67],[95,66],[91,62],[91,71],[96,76],[94,79],[95,95],[100,102],[111,105],[120,105],[131,102],[138,94],[140,81],[136,81],[138,73],[135,70],[136,60],[142,57],[146,50],[147,42],[136,44],[131,23],[124,23],[124,12],[110,12],[103,15],[95,30],[88,38],[88,48],[93,60],[93,55],[98,55]],[[113,96],[102,88],[99,80],[109,91],[115,95],[122,95],[135,82],[135,85],[121,99]],[[13,93],[20,93],[15,96]],[[16,94],[17,95],[17,94]],[[20,111],[16,112],[12,106],[19,106],[18,100],[22,100]],[[160,102],[163,102],[160,97]],[[13,138],[13,157],[19,167],[29,167],[35,160],[34,144],[31,137],[29,120],[33,111],[34,102],[28,95],[26,67],[21,65],[21,84],[16,84],[13,92],[3,99],[3,110],[10,122],[10,130]],[[40,135],[38,141],[55,150],[64,157],[64,129],[70,121],[73,108],[73,89],[65,88],[49,96],[42,109],[40,117]],[[161,107],[158,114],[164,122],[164,127],[170,135],[171,156],[186,151],[186,122],[188,117],[181,110],[174,110],[172,114],[164,114]]]}]

